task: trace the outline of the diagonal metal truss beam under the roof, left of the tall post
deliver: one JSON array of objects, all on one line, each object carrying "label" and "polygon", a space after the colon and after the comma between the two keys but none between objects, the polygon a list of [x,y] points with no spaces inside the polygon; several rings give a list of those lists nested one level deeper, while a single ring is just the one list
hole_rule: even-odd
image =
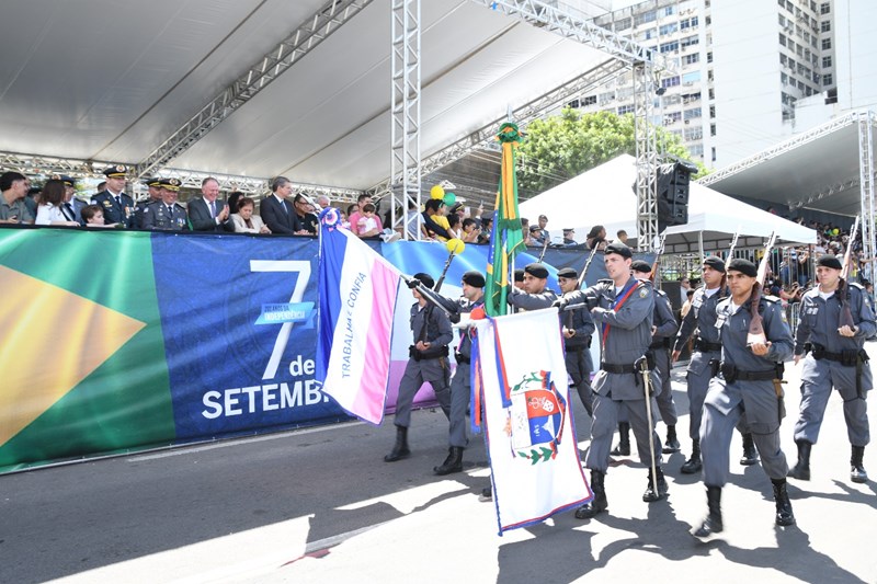
[{"label": "diagonal metal truss beam under the roof, left of the tall post", "polygon": [[355,16],[372,0],[331,0],[298,30],[266,53],[247,72],[224,89],[185,124],[135,167],[137,178],[147,176],[191,148],[241,105],[266,88],[281,73]]}]

